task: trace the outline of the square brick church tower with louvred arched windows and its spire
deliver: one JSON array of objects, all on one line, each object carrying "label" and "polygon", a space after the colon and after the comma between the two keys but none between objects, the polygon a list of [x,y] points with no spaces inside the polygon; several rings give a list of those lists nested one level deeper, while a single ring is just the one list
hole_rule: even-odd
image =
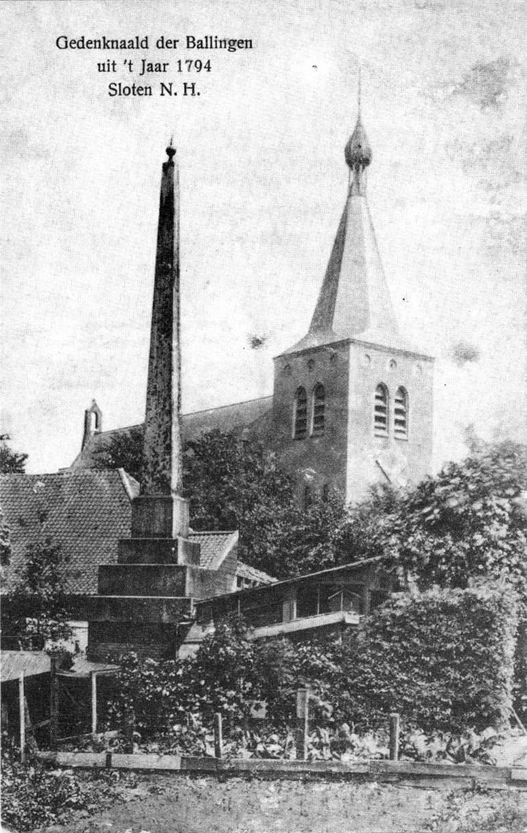
[{"label": "square brick church tower with louvred arched windows and its spire", "polygon": [[417,483],[432,454],[433,357],[399,332],[367,198],[373,153],[360,109],[344,149],[349,187],[309,332],[275,359],[273,424],[299,494],[359,501]]}]

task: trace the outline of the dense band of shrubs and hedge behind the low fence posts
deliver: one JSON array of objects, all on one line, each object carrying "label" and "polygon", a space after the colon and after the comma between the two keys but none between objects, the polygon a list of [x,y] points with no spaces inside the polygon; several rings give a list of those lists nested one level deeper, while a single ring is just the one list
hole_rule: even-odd
[{"label": "dense band of shrubs and hedge behind the low fence posts", "polygon": [[193,659],[126,657],[111,718],[122,724],[133,710],[141,741],[162,737],[170,748],[203,751],[219,711],[226,735],[254,751],[262,741],[247,734],[251,708],[265,701],[265,734],[285,754],[296,691],[308,686],[314,756],[351,753],[364,732],[385,731],[391,711],[404,721],[412,754],[414,731],[444,736],[444,751],[449,736],[469,727],[504,727],[515,628],[514,600],[502,586],[399,594],[344,642],[256,642],[243,623],[225,621]]}]

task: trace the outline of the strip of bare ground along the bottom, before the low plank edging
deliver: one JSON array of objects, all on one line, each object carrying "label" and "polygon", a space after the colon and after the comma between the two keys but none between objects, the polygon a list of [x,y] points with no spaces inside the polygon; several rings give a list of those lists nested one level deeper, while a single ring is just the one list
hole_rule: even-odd
[{"label": "strip of bare ground along the bottom, before the low plank edging", "polygon": [[184,773],[128,773],[122,783],[112,806],[53,833],[479,833],[527,825],[527,794],[515,791]]}]

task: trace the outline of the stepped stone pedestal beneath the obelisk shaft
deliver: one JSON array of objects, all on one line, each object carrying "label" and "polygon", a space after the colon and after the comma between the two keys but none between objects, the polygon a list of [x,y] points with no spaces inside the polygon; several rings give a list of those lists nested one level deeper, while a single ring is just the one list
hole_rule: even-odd
[{"label": "stepped stone pedestal beneath the obelisk shaft", "polygon": [[199,566],[199,544],[186,535],[187,501],[159,495],[132,502],[132,537],[119,541],[117,564],[99,567],[90,660],[129,651],[175,655],[192,623],[193,598],[213,595],[216,579]]}]

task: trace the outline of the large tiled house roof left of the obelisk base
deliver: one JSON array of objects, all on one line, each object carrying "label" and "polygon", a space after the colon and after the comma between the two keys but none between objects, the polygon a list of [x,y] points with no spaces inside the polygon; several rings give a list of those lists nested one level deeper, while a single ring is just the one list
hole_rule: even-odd
[{"label": "large tiled house roof left of the obelisk base", "polygon": [[130,535],[130,498],[138,484],[122,469],[0,475],[0,507],[11,537],[6,586],[26,547],[50,536],[69,556],[66,589],[96,593],[98,566],[117,561],[118,539]]}]

